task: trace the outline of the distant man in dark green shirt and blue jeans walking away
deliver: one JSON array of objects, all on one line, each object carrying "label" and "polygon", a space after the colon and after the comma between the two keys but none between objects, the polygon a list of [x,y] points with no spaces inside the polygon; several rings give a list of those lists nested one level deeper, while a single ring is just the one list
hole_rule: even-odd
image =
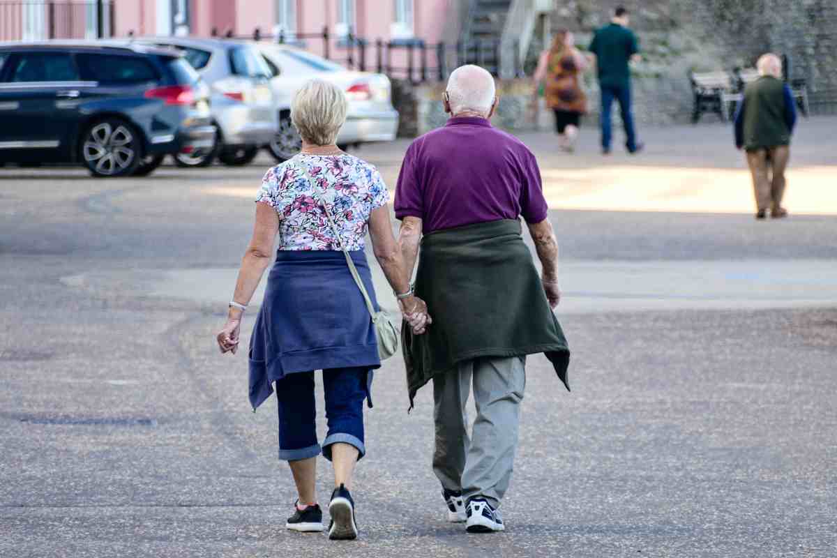
[{"label": "distant man in dark green shirt and blue jeans walking away", "polygon": [[628,28],[628,10],[621,6],[616,8],[611,23],[598,29],[593,36],[589,51],[596,57],[598,84],[602,91],[602,114],[600,115],[602,152],[605,155],[610,152],[610,108],[615,99],[619,101],[619,110],[622,113],[625,136],[627,136],[625,146],[629,153],[636,153],[643,146],[637,143],[634,131],[628,63],[639,60],[639,46],[636,35]]}]

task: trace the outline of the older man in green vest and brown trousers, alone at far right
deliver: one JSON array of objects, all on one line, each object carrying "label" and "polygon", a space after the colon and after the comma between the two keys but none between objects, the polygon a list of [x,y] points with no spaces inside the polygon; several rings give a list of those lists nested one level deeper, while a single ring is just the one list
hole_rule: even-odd
[{"label": "older man in green vest and brown trousers, alone at far right", "polygon": [[782,82],[782,61],[764,54],[757,63],[761,76],[747,85],[735,117],[735,143],[747,152],[756,194],[756,218],[788,217],[782,207],[790,136],[796,124],[793,93]]}]

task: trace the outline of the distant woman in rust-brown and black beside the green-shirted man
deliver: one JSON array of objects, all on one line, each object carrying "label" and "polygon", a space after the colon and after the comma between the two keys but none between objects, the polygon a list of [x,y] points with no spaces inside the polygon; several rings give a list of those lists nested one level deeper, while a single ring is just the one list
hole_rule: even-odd
[{"label": "distant woman in rust-brown and black beside the green-shirted man", "polygon": [[573,33],[561,30],[552,39],[552,47],[543,51],[535,70],[535,84],[544,83],[547,106],[555,113],[555,130],[562,150],[572,152],[587,112],[587,96],[580,75],[588,66],[584,55],[575,48]]}]

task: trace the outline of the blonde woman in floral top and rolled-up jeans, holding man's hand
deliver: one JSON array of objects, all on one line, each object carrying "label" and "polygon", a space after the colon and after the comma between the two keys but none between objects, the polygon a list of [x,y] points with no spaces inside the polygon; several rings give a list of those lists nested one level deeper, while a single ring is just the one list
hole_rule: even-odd
[{"label": "blonde woman in floral top and rolled-up jeans, holding man's hand", "polygon": [[[221,352],[235,353],[241,317],[270,265],[278,233],[279,250],[250,340],[249,397],[255,409],[275,384],[279,458],[289,462],[299,494],[288,529],[323,530],[316,456],[323,453],[331,461],[331,539],[357,538],[349,489],[355,463],[366,453],[363,401],[372,407],[372,370],[381,365],[372,320],[379,309],[364,255],[367,230],[413,332],[423,333],[430,321],[427,306],[413,296],[393,238],[389,194],[380,173],[335,145],[346,111],[342,90],[322,80],[309,81],[295,95],[291,119],[302,136],[302,151],[264,177],[253,238],[227,324],[218,333]],[[323,371],[326,397],[328,433],[322,445],[315,427],[316,370]]]}]

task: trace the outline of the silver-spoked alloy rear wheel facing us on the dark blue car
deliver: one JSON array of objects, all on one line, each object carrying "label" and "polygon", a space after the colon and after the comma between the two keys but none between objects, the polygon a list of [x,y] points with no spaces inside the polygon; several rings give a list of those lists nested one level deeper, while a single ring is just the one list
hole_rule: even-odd
[{"label": "silver-spoked alloy rear wheel facing us on the dark blue car", "polygon": [[82,136],[81,161],[94,177],[126,177],[140,164],[140,146],[139,136],[125,120],[99,120]]}]

